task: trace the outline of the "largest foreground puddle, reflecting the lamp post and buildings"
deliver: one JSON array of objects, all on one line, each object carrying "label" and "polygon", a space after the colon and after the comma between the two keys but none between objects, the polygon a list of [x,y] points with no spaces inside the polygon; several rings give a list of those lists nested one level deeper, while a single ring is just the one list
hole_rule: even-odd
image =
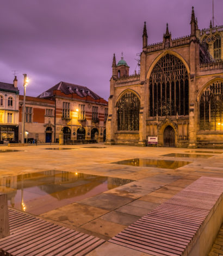
[{"label": "largest foreground puddle, reflecting the lamp post and buildings", "polygon": [[35,215],[95,196],[133,180],[47,170],[0,179],[8,205]]}]

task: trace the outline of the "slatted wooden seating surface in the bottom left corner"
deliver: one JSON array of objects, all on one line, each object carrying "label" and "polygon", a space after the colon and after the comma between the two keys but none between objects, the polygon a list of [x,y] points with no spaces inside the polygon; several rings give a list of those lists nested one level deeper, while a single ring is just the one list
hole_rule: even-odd
[{"label": "slatted wooden seating surface in the bottom left corner", "polygon": [[0,239],[0,255],[85,255],[105,241],[9,210],[10,235]]}]

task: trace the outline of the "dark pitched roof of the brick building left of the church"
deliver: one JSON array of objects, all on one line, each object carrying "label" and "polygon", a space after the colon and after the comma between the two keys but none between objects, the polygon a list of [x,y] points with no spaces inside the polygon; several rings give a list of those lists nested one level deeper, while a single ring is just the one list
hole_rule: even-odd
[{"label": "dark pitched roof of the brick building left of the church", "polygon": [[49,88],[44,93],[41,93],[38,97],[40,98],[49,98],[53,96],[54,90],[60,90],[66,95],[75,93],[80,97],[91,96],[93,99],[98,100],[102,99],[102,97],[98,96],[96,93],[92,92],[88,87],[78,86],[77,84],[59,82],[55,86]]}]

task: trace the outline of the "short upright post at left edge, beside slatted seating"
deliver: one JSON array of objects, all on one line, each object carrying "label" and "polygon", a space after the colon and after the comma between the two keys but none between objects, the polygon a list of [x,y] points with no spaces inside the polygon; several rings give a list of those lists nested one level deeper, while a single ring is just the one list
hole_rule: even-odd
[{"label": "short upright post at left edge, beside slatted seating", "polygon": [[0,239],[10,235],[7,194],[0,193]]}]

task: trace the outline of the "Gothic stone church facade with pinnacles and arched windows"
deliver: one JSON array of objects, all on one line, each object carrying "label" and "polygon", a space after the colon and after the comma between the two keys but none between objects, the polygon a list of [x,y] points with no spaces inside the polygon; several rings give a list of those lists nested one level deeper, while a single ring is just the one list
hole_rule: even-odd
[{"label": "Gothic stone church facade with pinnacles and arched windows", "polygon": [[110,79],[107,144],[223,147],[223,26],[200,30],[191,14],[189,36],[147,45],[146,23],[140,74],[129,75],[122,59]]}]

